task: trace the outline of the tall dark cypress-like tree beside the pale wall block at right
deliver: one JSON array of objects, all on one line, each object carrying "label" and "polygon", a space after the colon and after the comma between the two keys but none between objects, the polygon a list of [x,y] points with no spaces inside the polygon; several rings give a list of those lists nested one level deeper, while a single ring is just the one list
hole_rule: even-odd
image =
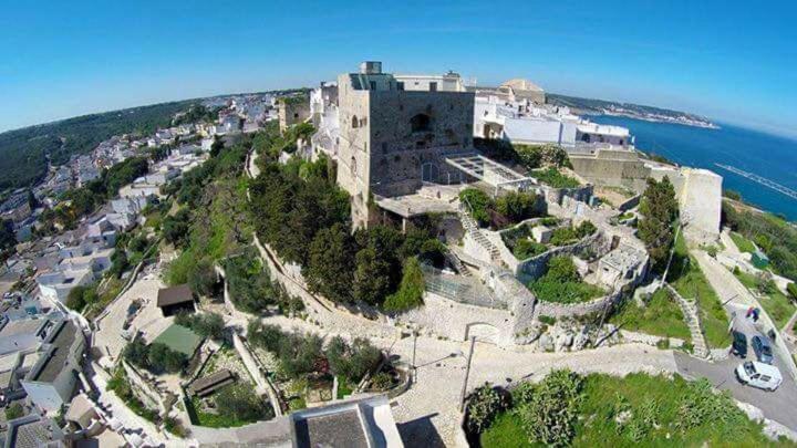
[{"label": "tall dark cypress-like tree beside the pale wall block at right", "polygon": [[666,176],[661,181],[648,179],[639,209],[639,237],[648,247],[653,269],[661,272],[674,242],[673,223],[679,212],[675,189]]}]

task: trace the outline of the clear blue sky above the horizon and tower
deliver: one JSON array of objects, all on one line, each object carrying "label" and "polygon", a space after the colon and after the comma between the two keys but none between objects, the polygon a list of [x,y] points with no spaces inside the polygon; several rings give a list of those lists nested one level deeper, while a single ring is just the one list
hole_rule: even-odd
[{"label": "clear blue sky above the horizon and tower", "polygon": [[797,136],[793,1],[7,2],[0,131],[315,85],[381,60]]}]

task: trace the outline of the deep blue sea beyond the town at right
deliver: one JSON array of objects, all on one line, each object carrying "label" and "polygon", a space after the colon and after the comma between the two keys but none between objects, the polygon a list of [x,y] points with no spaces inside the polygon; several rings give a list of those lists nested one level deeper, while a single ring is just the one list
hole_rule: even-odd
[{"label": "deep blue sea beyond the town at right", "polygon": [[628,127],[635,136],[638,149],[680,165],[711,169],[723,177],[724,189],[735,190],[746,202],[797,221],[797,199],[715,165],[729,165],[797,190],[795,139],[722,123],[717,123],[718,129],[711,129],[608,115],[588,118]]}]

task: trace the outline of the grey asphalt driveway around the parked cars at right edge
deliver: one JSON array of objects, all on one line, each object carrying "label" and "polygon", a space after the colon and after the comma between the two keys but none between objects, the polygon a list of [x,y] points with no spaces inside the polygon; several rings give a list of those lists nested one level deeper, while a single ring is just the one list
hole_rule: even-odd
[{"label": "grey asphalt driveway around the parked cars at right edge", "polygon": [[[747,360],[755,358],[753,351],[747,354]],[[797,386],[788,374],[784,375],[784,382],[775,392],[765,392],[755,387],[741,384],[734,376],[734,368],[741,360],[731,356],[725,361],[707,363],[684,353],[675,353],[675,364],[679,373],[685,377],[707,378],[714,387],[729,390],[731,395],[739,402],[748,403],[759,408],[764,416],[782,425],[797,430]],[[776,360],[775,365],[778,365]],[[783,366],[778,366],[783,372]]]}]

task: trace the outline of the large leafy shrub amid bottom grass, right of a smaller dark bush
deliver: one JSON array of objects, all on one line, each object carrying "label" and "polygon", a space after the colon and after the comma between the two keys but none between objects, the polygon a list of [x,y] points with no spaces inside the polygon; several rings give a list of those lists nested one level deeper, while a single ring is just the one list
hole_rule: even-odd
[{"label": "large leafy shrub amid bottom grass, right of a smaller dark bush", "polygon": [[532,441],[570,445],[576,435],[582,383],[570,371],[556,371],[527,394],[517,411]]}]

